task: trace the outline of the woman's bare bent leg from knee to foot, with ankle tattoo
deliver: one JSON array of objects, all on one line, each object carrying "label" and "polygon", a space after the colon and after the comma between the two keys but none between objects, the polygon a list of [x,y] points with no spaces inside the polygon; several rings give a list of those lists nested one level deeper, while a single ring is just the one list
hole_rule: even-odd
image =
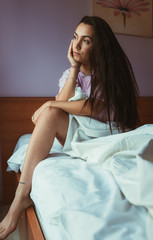
[{"label": "woman's bare bent leg from knee to foot, with ankle tattoo", "polygon": [[41,114],[32,133],[24,160],[20,178],[23,184],[18,185],[11,207],[0,223],[0,239],[5,239],[15,230],[22,211],[32,205],[29,194],[33,171],[36,165],[48,156],[55,137],[64,145],[68,122],[68,114],[58,108],[46,108]]}]

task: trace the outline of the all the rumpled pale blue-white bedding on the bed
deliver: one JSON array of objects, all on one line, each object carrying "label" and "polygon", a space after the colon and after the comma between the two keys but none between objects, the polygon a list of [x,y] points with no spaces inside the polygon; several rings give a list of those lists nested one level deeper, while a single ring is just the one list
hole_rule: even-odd
[{"label": "all the rumpled pale blue-white bedding on the bed", "polygon": [[[81,130],[69,131],[64,149],[55,140],[33,174],[31,198],[46,239],[153,239],[153,125],[85,139],[87,124],[74,118]],[[22,171],[29,138],[19,139],[8,170]]]}]

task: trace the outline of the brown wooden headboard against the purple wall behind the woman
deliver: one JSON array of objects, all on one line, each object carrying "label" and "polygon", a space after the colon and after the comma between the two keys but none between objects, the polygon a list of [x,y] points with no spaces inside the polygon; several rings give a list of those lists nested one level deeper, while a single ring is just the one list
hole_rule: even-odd
[{"label": "brown wooden headboard against the purple wall behind the woman", "polygon": [[[0,143],[3,183],[3,201],[12,201],[15,192],[15,174],[6,172],[7,160],[20,136],[31,133],[33,112],[49,97],[0,97]],[[153,123],[153,97],[138,98],[140,125]]]}]

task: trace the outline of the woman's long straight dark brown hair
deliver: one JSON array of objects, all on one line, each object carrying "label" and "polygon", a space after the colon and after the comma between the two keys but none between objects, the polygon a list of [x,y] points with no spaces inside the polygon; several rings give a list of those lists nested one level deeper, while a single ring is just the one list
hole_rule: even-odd
[{"label": "woman's long straight dark brown hair", "polygon": [[122,131],[134,129],[138,123],[139,90],[131,64],[110,26],[100,17],[85,16],[80,23],[94,29],[91,63],[91,93],[88,101],[93,109],[95,100],[104,101],[111,128],[110,112]]}]

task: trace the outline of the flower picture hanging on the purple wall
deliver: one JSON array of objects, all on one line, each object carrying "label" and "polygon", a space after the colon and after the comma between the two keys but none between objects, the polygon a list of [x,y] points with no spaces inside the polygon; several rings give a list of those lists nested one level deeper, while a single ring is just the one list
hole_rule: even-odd
[{"label": "flower picture hanging on the purple wall", "polygon": [[152,0],[92,0],[92,15],[119,34],[153,37],[152,8]]}]

